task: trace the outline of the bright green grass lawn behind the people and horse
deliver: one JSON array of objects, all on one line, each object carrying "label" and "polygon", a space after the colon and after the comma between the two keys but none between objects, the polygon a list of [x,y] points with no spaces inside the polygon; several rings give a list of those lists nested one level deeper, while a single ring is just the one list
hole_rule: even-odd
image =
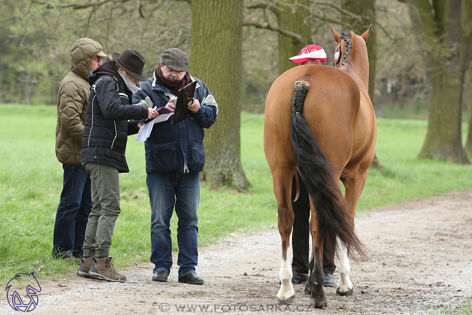
[{"label": "bright green grass lawn behind the people and horse", "polygon": [[[25,114],[28,119],[25,119]],[[39,278],[71,275],[77,265],[51,258],[53,228],[62,186],[56,159],[55,106],[0,106],[0,284],[18,272]],[[203,185],[199,206],[199,245],[234,232],[275,228],[276,201],[263,148],[264,117],[242,113],[241,160],[252,187],[210,190]],[[377,156],[385,165],[371,169],[357,210],[454,190],[472,189],[472,166],[418,160],[424,120],[379,120]],[[465,126],[464,126],[465,131]],[[122,268],[149,261],[150,206],[143,143],[129,137],[130,173],[120,175],[121,214],[110,254]],[[173,216],[174,250],[177,220]],[[126,255],[125,255],[126,254]],[[41,266],[43,266],[41,268]]]}]

